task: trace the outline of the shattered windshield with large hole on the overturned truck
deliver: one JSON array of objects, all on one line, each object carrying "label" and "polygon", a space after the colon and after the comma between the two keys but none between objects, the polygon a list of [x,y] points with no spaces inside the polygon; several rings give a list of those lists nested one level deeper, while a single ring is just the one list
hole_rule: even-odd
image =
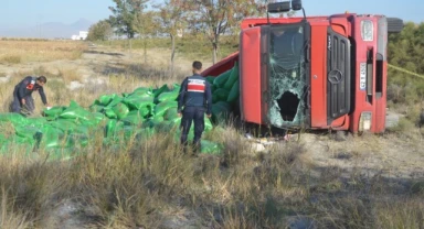
[{"label": "shattered windshield with large hole on the overturned truck", "polygon": [[279,128],[301,126],[306,101],[303,25],[272,26],[268,47],[268,120]]}]

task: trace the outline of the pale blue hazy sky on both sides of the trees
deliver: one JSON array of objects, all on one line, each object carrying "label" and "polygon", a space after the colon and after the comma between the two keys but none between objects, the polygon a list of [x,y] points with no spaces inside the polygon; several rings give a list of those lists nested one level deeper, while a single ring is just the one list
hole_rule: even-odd
[{"label": "pale blue hazy sky on both sides of the trees", "polygon": [[[97,22],[108,18],[110,14],[108,7],[114,6],[112,0],[0,0],[0,2],[2,3],[0,29],[33,26],[45,22],[70,24],[81,18]],[[385,14],[416,23],[424,22],[423,0],[304,0],[303,3],[309,15],[349,11]]]}]

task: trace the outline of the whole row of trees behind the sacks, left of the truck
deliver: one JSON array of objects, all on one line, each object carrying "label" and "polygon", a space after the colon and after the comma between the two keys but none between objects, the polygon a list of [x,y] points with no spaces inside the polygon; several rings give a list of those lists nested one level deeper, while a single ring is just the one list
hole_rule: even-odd
[{"label": "whole row of trees behind the sacks, left of the truck", "polygon": [[94,24],[87,40],[108,40],[114,33],[146,39],[169,36],[173,62],[178,33],[203,34],[213,50],[213,63],[223,34],[236,33],[243,18],[264,15],[267,0],[113,0],[112,15]]}]

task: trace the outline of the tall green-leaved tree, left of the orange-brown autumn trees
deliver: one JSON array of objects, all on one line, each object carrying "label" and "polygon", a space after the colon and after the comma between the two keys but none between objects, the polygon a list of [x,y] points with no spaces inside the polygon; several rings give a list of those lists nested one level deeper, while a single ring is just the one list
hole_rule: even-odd
[{"label": "tall green-leaved tree, left of the orange-brown autumn trees", "polygon": [[116,28],[116,32],[134,39],[136,31],[135,20],[139,12],[146,8],[149,0],[113,0],[116,7],[109,7],[113,15],[109,17],[109,23]]}]

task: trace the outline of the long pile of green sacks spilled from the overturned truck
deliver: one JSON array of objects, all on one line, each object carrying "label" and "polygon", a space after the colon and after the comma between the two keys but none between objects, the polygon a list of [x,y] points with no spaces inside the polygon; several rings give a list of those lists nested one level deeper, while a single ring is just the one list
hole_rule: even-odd
[{"label": "long pile of green sacks spilled from the overturned truck", "polygon": [[[206,77],[212,85],[212,120],[226,119],[239,101],[239,67],[214,77]],[[54,152],[52,156],[72,156],[78,148],[102,141],[119,145],[131,138],[148,139],[155,133],[173,134],[179,141],[181,118],[177,113],[180,86],[171,88],[139,87],[130,94],[103,95],[89,108],[71,101],[70,106],[44,109],[43,117],[25,118],[19,113],[0,113],[0,154],[22,145],[26,152],[38,149]],[[205,117],[205,132],[212,130]],[[189,140],[194,135],[191,128]],[[103,134],[97,134],[98,132]],[[100,135],[100,139],[95,137]],[[57,153],[59,152],[59,153]],[[202,153],[220,154],[219,144],[202,139]]]}]

